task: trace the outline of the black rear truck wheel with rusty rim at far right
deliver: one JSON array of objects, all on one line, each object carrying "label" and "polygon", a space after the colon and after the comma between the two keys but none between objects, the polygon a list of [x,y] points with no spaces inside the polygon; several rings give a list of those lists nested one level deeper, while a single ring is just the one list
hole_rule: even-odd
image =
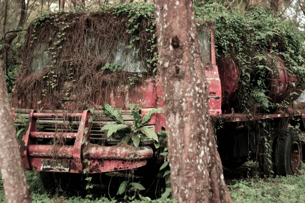
[{"label": "black rear truck wheel with rusty rim at far right", "polygon": [[276,147],[276,168],[278,175],[299,173],[302,162],[302,145],[297,131],[288,128],[285,136],[279,137]]}]

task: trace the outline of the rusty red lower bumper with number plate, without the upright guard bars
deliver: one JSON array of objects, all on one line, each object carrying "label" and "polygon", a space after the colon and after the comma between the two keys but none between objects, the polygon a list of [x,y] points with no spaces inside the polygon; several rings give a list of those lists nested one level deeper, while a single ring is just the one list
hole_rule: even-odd
[{"label": "rusty red lower bumper with number plate, without the upright guard bars", "polygon": [[[28,170],[82,173],[73,159],[73,147],[62,146],[54,152],[52,145],[28,146]],[[86,173],[102,173],[111,171],[129,170],[144,166],[154,152],[149,147],[135,148],[131,146],[92,146],[83,149],[82,168],[87,168]],[[56,157],[56,158],[55,158]],[[84,160],[87,160],[84,162]]]}]

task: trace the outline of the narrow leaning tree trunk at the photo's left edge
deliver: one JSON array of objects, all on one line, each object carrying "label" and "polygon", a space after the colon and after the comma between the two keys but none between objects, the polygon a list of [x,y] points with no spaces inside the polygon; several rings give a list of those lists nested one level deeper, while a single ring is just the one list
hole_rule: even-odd
[{"label": "narrow leaning tree trunk at the photo's left edge", "polygon": [[31,202],[0,60],[0,168],[6,202]]}]

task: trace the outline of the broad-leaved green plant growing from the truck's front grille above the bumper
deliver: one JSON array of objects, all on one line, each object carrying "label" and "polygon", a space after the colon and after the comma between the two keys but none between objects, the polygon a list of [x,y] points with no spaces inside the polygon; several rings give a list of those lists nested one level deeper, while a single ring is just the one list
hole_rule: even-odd
[{"label": "broad-leaved green plant growing from the truck's front grille above the bumper", "polygon": [[154,130],[151,130],[145,125],[149,123],[151,116],[154,113],[163,111],[162,109],[152,109],[146,115],[139,114],[139,109],[136,105],[129,105],[131,108],[132,115],[134,117],[134,121],[132,126],[129,126],[125,123],[125,121],[121,118],[120,114],[117,110],[113,109],[109,104],[105,103],[105,107],[103,111],[106,115],[113,118],[116,123],[115,124],[107,124],[101,128],[101,130],[107,130],[107,138],[112,136],[113,133],[122,132],[124,133],[124,138],[122,142],[129,143],[138,147],[140,142],[143,142],[144,138],[153,139],[156,141],[156,148],[159,147],[158,144],[158,136]]}]

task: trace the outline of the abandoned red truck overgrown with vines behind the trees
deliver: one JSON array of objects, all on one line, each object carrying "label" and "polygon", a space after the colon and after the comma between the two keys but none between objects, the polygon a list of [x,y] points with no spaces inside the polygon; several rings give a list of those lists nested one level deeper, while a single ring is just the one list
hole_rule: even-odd
[{"label": "abandoned red truck overgrown with vines behind the trees", "polygon": [[[141,60],[140,49],[145,49],[145,53],[148,49],[146,41],[141,42],[142,33],[153,24],[149,25],[150,21],[145,19],[140,21],[137,26],[146,24],[144,28],[139,28],[139,39],[135,39],[126,34],[126,30],[129,30],[127,16],[113,17],[103,12],[68,14],[48,15],[32,23],[27,30],[24,49],[28,53],[23,56],[12,99],[16,123],[21,124],[22,117],[28,119],[20,146],[24,167],[41,172],[46,187],[52,179],[49,176],[54,174],[65,173],[65,177],[72,177],[72,174],[101,174],[145,168],[147,164],[148,169],[145,170],[158,173],[163,157],[158,155],[160,151],[155,148],[154,139],[143,138],[140,147],[135,148],[120,144],[126,136],[124,132],[118,130],[108,137],[108,130],[101,130],[107,124],[118,123],[105,114],[105,104],[117,109],[121,122],[128,126],[133,126],[136,119],[130,104],[139,107],[142,120],[149,111],[164,107],[162,81],[158,75],[149,72],[149,67],[153,65]],[[69,17],[70,21],[66,19]],[[57,22],[63,23],[56,27]],[[99,27],[99,23],[109,30]],[[153,34],[149,35],[153,41]],[[143,47],[126,51],[125,47],[133,39],[139,40]],[[305,131],[304,106],[298,104],[283,110],[270,105],[268,111],[252,116],[247,112],[235,113],[233,108],[228,108],[228,104],[236,102],[233,97],[238,89],[239,70],[228,58],[217,64],[212,24],[198,26],[198,39],[202,60],[206,64],[202,68],[209,86],[209,114],[215,125],[219,126],[221,122],[222,126],[216,130],[216,137],[223,165],[236,168],[252,159],[259,161],[262,172],[266,174],[272,170],[279,175],[297,174],[303,151],[299,132],[294,127]],[[119,43],[109,44],[113,40]],[[84,44],[83,48],[77,44],[79,41]],[[156,43],[151,41],[149,47]],[[110,56],[106,58],[110,61],[105,62],[105,55]],[[87,58],[82,58],[84,56]],[[95,72],[85,72],[85,69],[91,69],[90,65],[94,66]],[[117,80],[112,79],[113,73],[106,72],[110,66],[112,71],[120,67],[123,69],[120,72],[126,76],[123,74]],[[273,100],[284,100],[290,96],[289,92],[298,89],[297,85],[289,85],[297,81],[286,69],[282,69],[283,66],[280,60],[278,74],[271,81],[272,86],[277,87],[268,94]],[[104,72],[98,75],[100,70]],[[62,86],[57,84],[60,80],[65,80],[61,81]],[[103,83],[100,84],[99,80],[103,80]],[[121,84],[121,80],[127,82]],[[80,81],[82,85],[79,85]],[[94,86],[98,83],[100,87]],[[41,85],[46,88],[39,89]],[[78,94],[85,91],[89,92],[85,95],[86,102]],[[269,137],[262,136],[258,127],[266,123],[272,129]],[[145,127],[155,133],[166,130],[165,114],[151,114]],[[259,147],[262,140],[270,150]]]}]

